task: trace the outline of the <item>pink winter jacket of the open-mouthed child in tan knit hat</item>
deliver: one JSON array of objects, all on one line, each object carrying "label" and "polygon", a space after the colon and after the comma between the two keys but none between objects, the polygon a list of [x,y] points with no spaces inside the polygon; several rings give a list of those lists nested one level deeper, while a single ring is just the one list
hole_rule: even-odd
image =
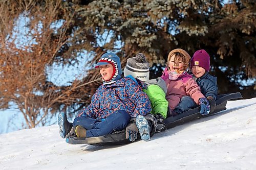
[{"label": "pink winter jacket of the open-mouthed child in tan knit hat", "polygon": [[200,98],[205,98],[200,91],[200,87],[187,72],[181,75],[177,80],[169,80],[169,75],[165,68],[161,78],[165,81],[167,86],[166,100],[168,101],[168,106],[171,111],[180,103],[183,96],[190,96],[196,104],[198,104]]}]

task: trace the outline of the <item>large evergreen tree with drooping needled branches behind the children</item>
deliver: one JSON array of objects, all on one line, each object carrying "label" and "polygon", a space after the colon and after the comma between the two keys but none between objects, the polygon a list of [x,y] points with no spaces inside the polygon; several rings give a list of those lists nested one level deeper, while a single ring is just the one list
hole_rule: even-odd
[{"label": "large evergreen tree with drooping needled branches behind the children", "polygon": [[[210,54],[211,73],[218,77],[219,93],[241,89],[255,96],[254,1],[66,1],[73,29],[96,53],[93,65],[105,51],[117,51],[122,63],[144,53],[153,65],[152,78],[161,75],[168,53],[183,48],[192,56],[204,49]],[[79,38],[78,38],[79,39]],[[82,39],[82,38],[81,38]],[[250,86],[241,84],[250,78]],[[254,89],[253,89],[254,88]],[[247,91],[247,92],[246,92]],[[251,92],[252,91],[252,92]],[[249,95],[248,95],[249,94]]]}]

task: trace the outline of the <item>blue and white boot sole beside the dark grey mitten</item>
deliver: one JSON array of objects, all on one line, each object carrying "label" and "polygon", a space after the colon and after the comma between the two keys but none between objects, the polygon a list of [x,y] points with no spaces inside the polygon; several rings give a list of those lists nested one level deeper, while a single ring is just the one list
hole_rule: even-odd
[{"label": "blue and white boot sole beside the dark grey mitten", "polygon": [[140,137],[142,140],[150,140],[150,126],[144,116],[139,115],[136,118],[136,125],[140,132]]}]

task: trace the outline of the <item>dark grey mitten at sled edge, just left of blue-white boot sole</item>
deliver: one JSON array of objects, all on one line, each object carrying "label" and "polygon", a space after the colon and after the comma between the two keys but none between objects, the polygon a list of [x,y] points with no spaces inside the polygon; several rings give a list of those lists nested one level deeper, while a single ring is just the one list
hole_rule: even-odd
[{"label": "dark grey mitten at sled edge, just left of blue-white boot sole", "polygon": [[138,137],[139,129],[136,126],[136,118],[131,118],[130,123],[127,125],[125,129],[125,138],[130,141],[135,141]]}]

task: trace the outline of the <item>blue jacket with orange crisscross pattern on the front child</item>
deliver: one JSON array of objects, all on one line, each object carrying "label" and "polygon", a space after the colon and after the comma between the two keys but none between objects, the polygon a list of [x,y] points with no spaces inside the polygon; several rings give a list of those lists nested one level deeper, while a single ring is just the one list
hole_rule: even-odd
[{"label": "blue jacket with orange crisscross pattern on the front child", "polygon": [[151,111],[150,100],[140,85],[130,78],[121,78],[113,84],[102,84],[92,96],[91,104],[78,116],[104,119],[117,110],[131,115],[146,115]]}]

